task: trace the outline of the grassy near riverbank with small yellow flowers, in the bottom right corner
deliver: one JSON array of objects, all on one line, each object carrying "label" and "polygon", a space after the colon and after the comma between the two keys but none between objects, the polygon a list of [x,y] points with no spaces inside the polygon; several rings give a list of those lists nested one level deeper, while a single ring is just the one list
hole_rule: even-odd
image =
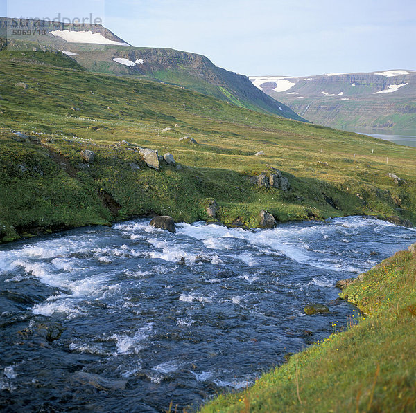
[{"label": "grassy near riverbank with small yellow flowers, in the bottom right corner", "polygon": [[358,324],[334,326],[324,342],[201,412],[415,412],[415,251],[385,259],[340,296],[363,311]]}]

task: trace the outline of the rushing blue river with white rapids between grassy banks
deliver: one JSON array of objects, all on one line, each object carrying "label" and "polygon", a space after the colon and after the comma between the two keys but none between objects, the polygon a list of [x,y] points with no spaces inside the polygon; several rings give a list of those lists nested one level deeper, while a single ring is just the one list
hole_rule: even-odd
[{"label": "rushing blue river with white rapids between grassy banks", "polygon": [[346,326],[338,279],[415,241],[362,217],[175,234],[138,219],[1,246],[0,409],[159,412],[243,389]]}]

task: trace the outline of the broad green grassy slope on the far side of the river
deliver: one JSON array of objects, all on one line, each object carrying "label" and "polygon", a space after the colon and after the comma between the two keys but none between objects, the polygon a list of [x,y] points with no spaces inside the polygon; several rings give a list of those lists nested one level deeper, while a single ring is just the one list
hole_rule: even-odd
[{"label": "broad green grassy slope on the far side of the river", "polygon": [[[416,149],[89,73],[60,52],[0,51],[0,76],[3,241],[153,212],[208,219],[209,199],[220,221],[250,227],[261,210],[277,221],[371,214],[416,223]],[[180,165],[149,169],[136,146],[170,152]],[[96,153],[91,165],[84,149]],[[270,166],[290,191],[250,183]]]}]

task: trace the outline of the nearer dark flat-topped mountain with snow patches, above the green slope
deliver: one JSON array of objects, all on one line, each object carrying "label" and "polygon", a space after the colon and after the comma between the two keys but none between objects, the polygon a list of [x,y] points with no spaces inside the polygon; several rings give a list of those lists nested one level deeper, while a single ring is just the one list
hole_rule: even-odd
[{"label": "nearer dark flat-topped mountain with snow patches, above the green slope", "polygon": [[100,24],[0,18],[0,36],[13,50],[60,51],[89,71],[148,77],[215,96],[239,107],[304,120],[255,88],[248,77],[207,57],[170,48],[133,47]]}]

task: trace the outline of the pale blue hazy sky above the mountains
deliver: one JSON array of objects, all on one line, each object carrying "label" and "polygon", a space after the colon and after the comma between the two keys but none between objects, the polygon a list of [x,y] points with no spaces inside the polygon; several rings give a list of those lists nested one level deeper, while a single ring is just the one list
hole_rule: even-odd
[{"label": "pale blue hazy sky above the mountains", "polygon": [[133,46],[245,75],[416,70],[416,0],[0,0],[8,17],[101,17]]}]

